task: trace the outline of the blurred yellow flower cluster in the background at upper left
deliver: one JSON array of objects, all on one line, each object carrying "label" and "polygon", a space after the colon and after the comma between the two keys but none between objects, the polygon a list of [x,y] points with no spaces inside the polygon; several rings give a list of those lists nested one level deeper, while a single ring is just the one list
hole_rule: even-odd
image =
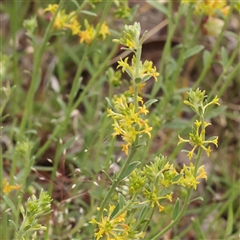
[{"label": "blurred yellow flower cluster in the background at upper left", "polygon": [[[57,4],[50,4],[47,8],[44,9],[44,11],[54,14],[57,8]],[[77,13],[71,12],[70,14],[66,14],[65,10],[62,10],[57,14],[53,26],[54,28],[60,30],[70,29],[72,31],[72,35],[78,35],[80,37],[80,43],[86,42],[88,45],[91,44],[92,41],[98,36],[100,36],[102,39],[105,39],[107,34],[110,35],[106,22],[102,23],[97,34],[96,29],[99,28],[99,25],[94,27],[93,25],[90,25],[87,20],[85,20],[85,30],[81,31],[81,25],[77,20]]]}]

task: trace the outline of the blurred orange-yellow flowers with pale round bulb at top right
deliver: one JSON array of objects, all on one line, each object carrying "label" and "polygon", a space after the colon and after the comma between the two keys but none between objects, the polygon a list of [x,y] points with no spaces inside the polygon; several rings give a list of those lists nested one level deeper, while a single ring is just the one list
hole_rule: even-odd
[{"label": "blurred orange-yellow flowers with pale round bulb at top right", "polygon": [[230,6],[226,0],[182,0],[183,3],[192,3],[195,14],[203,15],[201,30],[204,35],[217,37],[224,26],[224,21],[219,17],[217,12],[222,16],[227,16]]}]

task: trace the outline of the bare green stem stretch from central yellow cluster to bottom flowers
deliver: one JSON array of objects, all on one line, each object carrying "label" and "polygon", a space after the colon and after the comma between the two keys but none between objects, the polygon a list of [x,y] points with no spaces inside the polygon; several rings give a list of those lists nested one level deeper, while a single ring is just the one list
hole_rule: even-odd
[{"label": "bare green stem stretch from central yellow cluster to bottom flowers", "polygon": [[100,209],[99,209],[98,215],[97,215],[97,221],[100,221],[100,218],[102,216],[104,208],[106,207],[108,201],[110,200],[114,190],[116,189],[116,187],[118,186],[118,184],[122,180],[122,178],[124,176],[124,173],[126,172],[129,164],[131,163],[132,158],[133,158],[134,154],[136,153],[136,151],[137,151],[137,147],[135,145],[133,145],[126,161],[124,162],[124,164],[123,164],[123,166],[122,166],[122,168],[121,168],[121,170],[120,170],[120,172],[117,176],[117,178],[115,180],[113,180],[111,188],[109,189],[108,193],[106,194],[105,198],[103,199],[103,201],[101,203],[101,206],[100,206]]}]

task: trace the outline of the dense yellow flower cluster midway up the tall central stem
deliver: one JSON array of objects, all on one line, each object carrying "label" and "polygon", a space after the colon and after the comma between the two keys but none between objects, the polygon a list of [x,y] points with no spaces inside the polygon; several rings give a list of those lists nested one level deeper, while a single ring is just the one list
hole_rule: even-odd
[{"label": "dense yellow flower cluster midway up the tall central stem", "polygon": [[146,133],[151,137],[150,131],[152,127],[148,126],[148,120],[141,118],[146,115],[148,110],[143,104],[143,100],[138,96],[138,102],[141,106],[135,110],[134,104],[128,102],[124,95],[115,96],[114,108],[115,112],[108,109],[108,116],[113,118],[114,133],[113,136],[121,135],[126,144],[122,144],[122,151],[128,155],[128,148],[135,142],[137,135]]}]

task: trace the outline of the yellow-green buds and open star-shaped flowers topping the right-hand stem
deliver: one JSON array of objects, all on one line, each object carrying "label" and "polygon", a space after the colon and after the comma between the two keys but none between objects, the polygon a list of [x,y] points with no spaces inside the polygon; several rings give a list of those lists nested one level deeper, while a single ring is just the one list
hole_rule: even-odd
[{"label": "yellow-green buds and open star-shaped flowers topping the right-hand stem", "polygon": [[207,156],[210,156],[212,151],[211,147],[209,146],[210,143],[214,144],[216,147],[218,146],[218,137],[211,137],[205,140],[206,135],[206,127],[211,125],[211,123],[207,123],[204,121],[204,116],[206,115],[207,108],[211,105],[220,105],[219,98],[216,96],[211,102],[206,101],[205,91],[201,91],[197,89],[196,91],[191,90],[188,92],[188,100],[185,100],[184,103],[189,105],[194,112],[200,117],[200,121],[196,120],[194,123],[194,127],[192,128],[192,132],[189,133],[189,139],[183,139],[178,136],[179,141],[178,144],[181,143],[189,143],[193,148],[191,151],[188,152],[188,157],[191,160],[194,155],[194,152],[197,148],[202,148]]}]

